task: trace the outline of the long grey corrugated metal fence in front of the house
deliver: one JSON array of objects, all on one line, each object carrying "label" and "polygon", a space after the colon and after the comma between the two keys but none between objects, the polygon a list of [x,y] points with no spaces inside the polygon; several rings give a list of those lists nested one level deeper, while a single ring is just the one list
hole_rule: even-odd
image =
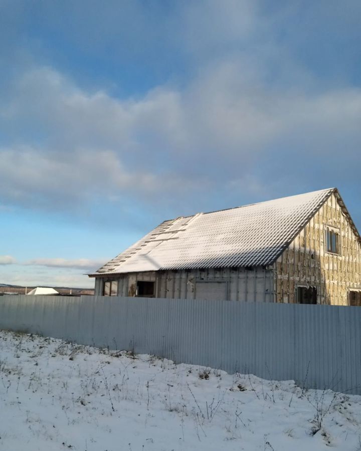
[{"label": "long grey corrugated metal fence in front of the house", "polygon": [[361,394],[359,307],[3,296],[0,328]]}]

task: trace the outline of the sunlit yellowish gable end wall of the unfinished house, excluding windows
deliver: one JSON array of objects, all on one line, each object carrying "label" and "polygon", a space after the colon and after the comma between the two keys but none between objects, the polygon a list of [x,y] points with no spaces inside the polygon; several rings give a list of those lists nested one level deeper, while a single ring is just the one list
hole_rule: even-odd
[{"label": "sunlit yellowish gable end wall of the unfinished house, excluding windows", "polygon": [[[327,226],[339,231],[340,254],[326,252]],[[274,264],[276,302],[296,302],[297,286],[315,286],[318,303],[348,305],[361,289],[361,246],[335,194],[315,213]]]}]

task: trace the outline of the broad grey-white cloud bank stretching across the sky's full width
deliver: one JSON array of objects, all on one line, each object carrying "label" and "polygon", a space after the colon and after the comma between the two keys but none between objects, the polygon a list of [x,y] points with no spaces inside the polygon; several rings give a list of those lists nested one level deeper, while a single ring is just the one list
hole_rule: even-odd
[{"label": "broad grey-white cloud bank stretching across the sky's full width", "polygon": [[100,198],[178,204],[238,189],[250,172],[265,186],[267,158],[293,170],[290,156],[302,151],[308,174],[308,157],[341,145],[352,167],[360,163],[361,89],[271,86],[260,69],[247,55],[225,57],[182,88],[137,99],[82,89],[50,68],[28,71],[0,108],[14,134],[0,148],[0,200],[66,210]]}]

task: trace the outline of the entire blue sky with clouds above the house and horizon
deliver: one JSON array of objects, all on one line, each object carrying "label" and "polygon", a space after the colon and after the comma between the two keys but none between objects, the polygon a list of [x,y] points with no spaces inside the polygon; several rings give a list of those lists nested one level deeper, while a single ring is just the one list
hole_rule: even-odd
[{"label": "entire blue sky with clouds above the house and horizon", "polygon": [[162,220],[337,186],[361,228],[361,3],[0,1],[0,283]]}]

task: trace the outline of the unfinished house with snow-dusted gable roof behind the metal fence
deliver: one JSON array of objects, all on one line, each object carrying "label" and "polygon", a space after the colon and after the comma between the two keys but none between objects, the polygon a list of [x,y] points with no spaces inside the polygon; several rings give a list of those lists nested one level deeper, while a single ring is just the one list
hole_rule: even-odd
[{"label": "unfinished house with snow-dusted gable roof behind the metal fence", "polygon": [[329,188],[166,220],[89,277],[104,296],[361,305],[361,238]]}]

